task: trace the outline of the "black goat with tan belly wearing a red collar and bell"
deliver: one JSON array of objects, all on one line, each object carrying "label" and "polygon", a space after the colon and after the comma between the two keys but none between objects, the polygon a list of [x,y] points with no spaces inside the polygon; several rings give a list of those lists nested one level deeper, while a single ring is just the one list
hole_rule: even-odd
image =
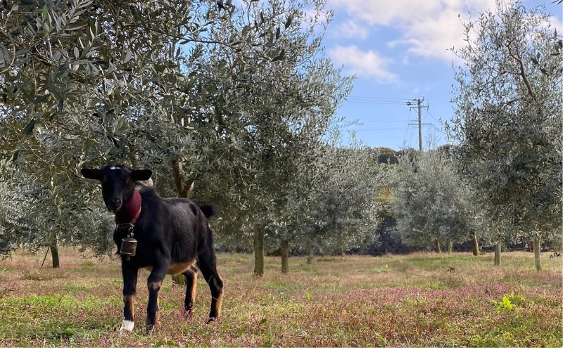
[{"label": "black goat with tan belly wearing a red collar and bell", "polygon": [[[134,328],[134,299],[139,269],[151,271],[148,276],[148,306],[146,331],[158,328],[158,291],[166,274],[186,276],[186,314],[193,315],[196,295],[197,269],[211,290],[211,310],[208,323],[220,316],[223,281],[217,274],[213,236],[208,217],[215,211],[209,205],[198,207],[183,198],[160,198],[153,188],[135,189],[137,181],[151,178],[152,172],[136,170],[125,165],[111,165],[102,169],[81,171],[87,179],[101,181],[103,201],[115,213],[113,240],[122,250],[124,238],[137,240],[136,250],[129,256],[122,254],[123,323],[120,331]],[[129,248],[129,247],[128,247]],[[125,249],[125,247],[124,247]]]}]

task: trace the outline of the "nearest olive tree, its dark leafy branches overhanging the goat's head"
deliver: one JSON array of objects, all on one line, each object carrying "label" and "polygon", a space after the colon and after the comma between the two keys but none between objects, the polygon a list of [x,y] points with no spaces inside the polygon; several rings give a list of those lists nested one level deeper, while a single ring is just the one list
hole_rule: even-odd
[{"label": "nearest olive tree, its dark leafy branches overhanging the goat's head", "polygon": [[[205,119],[190,124],[201,120],[194,115],[202,108],[191,97],[208,93],[186,70],[197,54],[181,46],[232,48],[205,38],[228,12],[201,1],[4,1],[2,6],[1,150],[18,170],[37,176],[30,182],[42,199],[30,214],[44,217],[39,219],[44,231],[58,229],[61,224],[53,221],[69,221],[67,214],[80,208],[72,195],[82,188],[77,173],[86,162],[156,165],[182,174],[182,153],[201,149],[194,133],[215,125]],[[186,195],[191,179],[175,179],[179,195]],[[84,198],[87,202],[91,194]]]}]

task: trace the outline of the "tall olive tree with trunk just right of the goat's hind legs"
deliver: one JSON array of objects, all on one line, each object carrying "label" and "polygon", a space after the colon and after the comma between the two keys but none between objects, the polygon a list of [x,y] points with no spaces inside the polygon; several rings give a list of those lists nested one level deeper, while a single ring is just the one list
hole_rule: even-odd
[{"label": "tall olive tree with trunk just right of the goat's hind legs", "polygon": [[[331,17],[326,2],[249,1],[229,20],[240,30],[210,33],[217,41],[234,40],[237,49],[213,46],[201,64],[210,69],[202,80],[215,86],[210,106],[201,110],[215,125],[210,136],[217,139],[217,165],[198,169],[194,198],[220,202],[222,214],[236,219],[228,226],[239,231],[221,232],[253,243],[258,275],[264,271],[266,228],[301,189],[294,179],[314,165],[351,88],[352,79],[325,57],[321,44]],[[256,28],[270,34],[253,36]]]}]

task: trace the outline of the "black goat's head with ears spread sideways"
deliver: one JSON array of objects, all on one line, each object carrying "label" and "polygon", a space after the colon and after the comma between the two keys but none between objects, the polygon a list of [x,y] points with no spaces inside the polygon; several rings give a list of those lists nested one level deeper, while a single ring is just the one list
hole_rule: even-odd
[{"label": "black goat's head with ears spread sideways", "polygon": [[110,212],[119,210],[133,197],[137,181],[151,179],[148,169],[132,169],[125,165],[108,165],[102,169],[82,168],[80,173],[86,179],[101,181],[103,202]]}]

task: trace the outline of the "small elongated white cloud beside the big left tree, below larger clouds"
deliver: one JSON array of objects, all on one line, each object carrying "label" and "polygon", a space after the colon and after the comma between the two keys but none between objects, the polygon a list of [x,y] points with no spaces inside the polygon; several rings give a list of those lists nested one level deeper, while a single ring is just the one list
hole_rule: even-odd
[{"label": "small elongated white cloud beside the big left tree, below larger clouds", "polygon": [[336,46],[329,49],[329,56],[358,77],[373,77],[379,84],[398,82],[397,75],[388,70],[390,60],[375,51],[362,51],[357,46]]}]

